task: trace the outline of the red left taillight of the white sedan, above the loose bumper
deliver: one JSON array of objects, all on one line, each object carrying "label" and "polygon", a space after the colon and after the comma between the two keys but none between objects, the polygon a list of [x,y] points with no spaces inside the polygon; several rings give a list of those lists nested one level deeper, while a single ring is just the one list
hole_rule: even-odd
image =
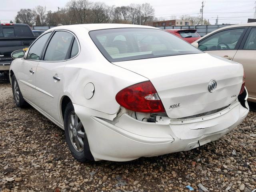
[{"label": "red left taillight of the white sedan, above the loose bumper", "polygon": [[136,112],[165,112],[162,101],[150,81],[122,89],[116,94],[116,101],[124,108]]}]

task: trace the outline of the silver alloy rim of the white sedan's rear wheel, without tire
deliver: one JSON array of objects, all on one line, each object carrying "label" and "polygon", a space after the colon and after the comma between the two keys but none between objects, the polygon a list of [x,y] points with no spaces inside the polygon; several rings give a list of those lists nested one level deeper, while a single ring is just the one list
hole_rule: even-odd
[{"label": "silver alloy rim of the white sedan's rear wheel, without tire", "polygon": [[84,151],[84,126],[74,111],[68,116],[68,133],[75,150]]}]

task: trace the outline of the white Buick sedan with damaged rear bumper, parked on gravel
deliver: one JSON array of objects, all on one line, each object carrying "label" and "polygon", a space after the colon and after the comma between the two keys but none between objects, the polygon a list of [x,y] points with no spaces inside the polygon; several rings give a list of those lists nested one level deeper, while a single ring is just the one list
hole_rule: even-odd
[{"label": "white Buick sedan with damaged rear bumper, parked on gravel", "polygon": [[80,162],[191,150],[249,111],[241,64],[154,27],[58,26],[12,57],[16,105],[64,129]]}]

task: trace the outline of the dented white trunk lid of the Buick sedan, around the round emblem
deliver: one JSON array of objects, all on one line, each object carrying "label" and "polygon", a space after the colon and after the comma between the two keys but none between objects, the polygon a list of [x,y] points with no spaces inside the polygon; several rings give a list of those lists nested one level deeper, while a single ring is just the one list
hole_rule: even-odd
[{"label": "dented white trunk lid of the Buick sedan, around the round emblem", "polygon": [[[236,100],[241,64],[206,53],[168,56],[113,64],[148,78],[170,118],[184,118],[228,106]],[[214,92],[208,84],[216,80]]]}]

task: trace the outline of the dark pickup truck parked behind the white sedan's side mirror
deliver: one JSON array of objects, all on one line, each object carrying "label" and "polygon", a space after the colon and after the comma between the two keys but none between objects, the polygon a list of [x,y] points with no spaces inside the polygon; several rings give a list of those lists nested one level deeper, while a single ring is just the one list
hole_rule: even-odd
[{"label": "dark pickup truck parked behind the white sedan's side mirror", "polygon": [[0,73],[8,76],[11,53],[28,48],[37,37],[34,36],[27,24],[1,23],[0,24]]}]

